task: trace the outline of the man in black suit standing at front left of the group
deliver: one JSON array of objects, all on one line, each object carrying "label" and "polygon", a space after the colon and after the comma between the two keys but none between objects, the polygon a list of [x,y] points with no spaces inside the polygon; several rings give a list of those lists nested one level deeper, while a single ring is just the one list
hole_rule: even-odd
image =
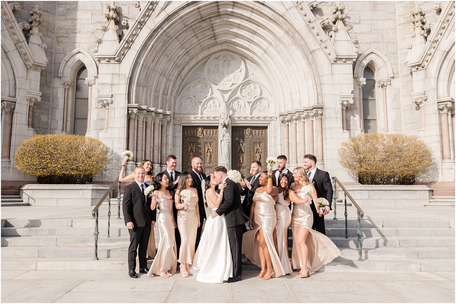
[{"label": "man in black suit standing at front left of the group", "polygon": [[150,210],[150,196],[144,195],[147,185],[144,182],[145,171],[143,167],[135,167],[135,181],[125,187],[122,211],[125,226],[130,233],[130,246],[128,247],[128,275],[137,278],[136,274],[136,250],[140,263],[140,273],[147,274],[147,245],[151,227],[155,225],[157,208]]}]

